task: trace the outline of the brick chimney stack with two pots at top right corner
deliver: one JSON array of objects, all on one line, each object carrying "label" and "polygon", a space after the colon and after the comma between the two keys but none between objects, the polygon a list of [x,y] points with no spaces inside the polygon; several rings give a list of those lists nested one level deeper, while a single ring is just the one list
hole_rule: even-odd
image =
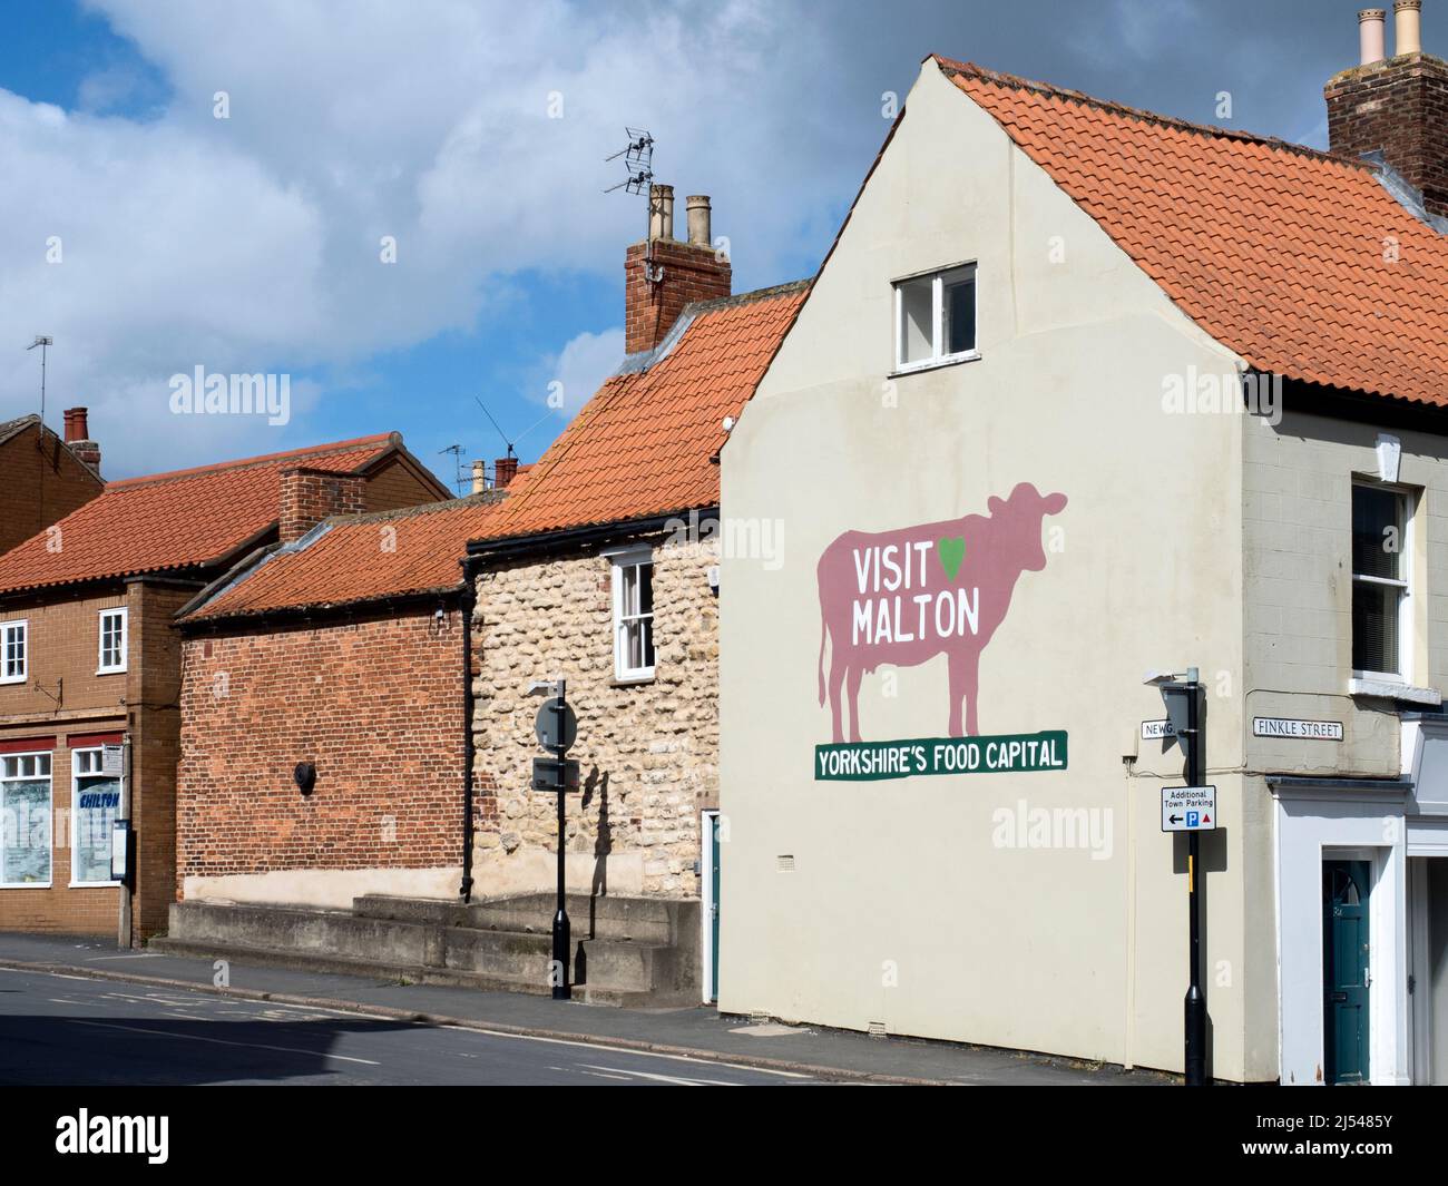
[{"label": "brick chimney stack with two pots at top right corner", "polygon": [[1422,0],[1393,4],[1393,56],[1381,58],[1383,9],[1358,13],[1360,58],[1334,75],[1328,140],[1334,152],[1383,158],[1423,195],[1429,214],[1448,216],[1448,62],[1422,52]]}]

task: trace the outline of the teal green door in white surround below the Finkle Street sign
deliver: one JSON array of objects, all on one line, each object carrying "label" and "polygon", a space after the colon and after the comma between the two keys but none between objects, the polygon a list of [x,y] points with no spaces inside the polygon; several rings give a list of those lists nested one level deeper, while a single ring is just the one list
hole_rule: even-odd
[{"label": "teal green door in white surround below the Finkle Street sign", "polygon": [[1368,1082],[1368,867],[1322,863],[1323,1067],[1328,1083]]}]

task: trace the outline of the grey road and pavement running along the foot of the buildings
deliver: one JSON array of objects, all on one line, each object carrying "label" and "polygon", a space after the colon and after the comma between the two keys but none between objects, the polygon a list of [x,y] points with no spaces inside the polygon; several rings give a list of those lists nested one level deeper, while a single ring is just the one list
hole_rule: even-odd
[{"label": "grey road and pavement running along the foot of the buildings", "polygon": [[1014,1050],[756,1024],[708,1006],[620,1009],[13,933],[0,933],[0,1051],[9,1083],[1173,1082]]}]

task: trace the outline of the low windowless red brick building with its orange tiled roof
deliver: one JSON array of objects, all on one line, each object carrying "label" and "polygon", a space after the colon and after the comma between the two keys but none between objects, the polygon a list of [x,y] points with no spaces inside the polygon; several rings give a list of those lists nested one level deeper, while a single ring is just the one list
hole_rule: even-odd
[{"label": "low windowless red brick building with its orange tiled roof", "polygon": [[456,895],[459,558],[500,494],[327,518],[187,608],[178,898]]}]

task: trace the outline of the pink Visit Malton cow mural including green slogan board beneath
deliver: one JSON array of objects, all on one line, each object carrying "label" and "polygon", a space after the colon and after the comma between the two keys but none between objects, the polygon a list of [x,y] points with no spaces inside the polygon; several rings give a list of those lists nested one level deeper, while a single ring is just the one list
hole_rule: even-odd
[{"label": "pink Visit Malton cow mural including green slogan board beneath", "polygon": [[[833,733],[815,747],[817,779],[1066,769],[1061,730],[980,736],[979,728],[980,652],[1005,621],[1021,573],[1045,568],[1041,524],[1064,507],[1064,494],[1021,482],[1008,498],[989,498],[985,516],[834,539],[817,569],[820,704],[830,704]],[[947,736],[862,740],[863,678],[937,655],[948,673]]]}]

